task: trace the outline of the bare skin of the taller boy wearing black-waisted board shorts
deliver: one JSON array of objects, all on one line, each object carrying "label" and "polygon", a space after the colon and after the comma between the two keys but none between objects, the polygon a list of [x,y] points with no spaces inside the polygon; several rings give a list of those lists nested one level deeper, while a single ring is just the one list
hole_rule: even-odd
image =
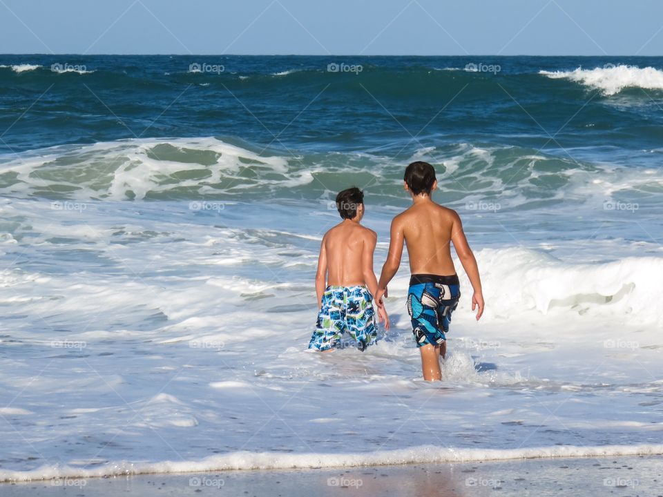
[{"label": "bare skin of the taller boy wearing black-waisted board shorts", "polygon": [[[450,208],[436,204],[430,195],[420,193],[414,195],[407,183],[405,191],[412,197],[412,206],[394,217],[391,227],[391,237],[387,260],[382,268],[375,300],[378,308],[384,306],[383,297],[387,297],[387,284],[392,280],[401,266],[403,256],[403,242],[407,244],[407,255],[410,257],[410,272],[412,274],[454,275],[456,268],[451,257],[451,244],[454,245],[465,273],[470,278],[472,294],[472,311],[477,310],[477,321],[483,314],[483,293],[481,291],[481,278],[479,267],[474,258],[472,249],[463,232],[461,218]],[[437,182],[433,183],[432,191],[436,190]],[[431,193],[432,193],[431,191]],[[427,381],[442,379],[440,369],[440,355],[445,358],[446,342],[434,347],[426,344],[419,348],[421,352],[421,369],[423,378]]]}]

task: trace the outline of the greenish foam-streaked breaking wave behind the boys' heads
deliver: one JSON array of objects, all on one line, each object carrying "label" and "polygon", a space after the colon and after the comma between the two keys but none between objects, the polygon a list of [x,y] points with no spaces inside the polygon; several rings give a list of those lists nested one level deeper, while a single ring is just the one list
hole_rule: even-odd
[{"label": "greenish foam-streaked breaking wave behind the boys' heads", "polygon": [[[461,193],[463,204],[491,199],[498,202],[500,208],[536,206],[539,202],[536,195],[523,195],[523,190],[532,187],[539,189],[541,197],[548,202],[554,199],[558,203],[573,202],[575,206],[584,202],[588,208],[603,208],[604,202],[612,200],[613,195],[618,199],[625,191],[659,188],[663,192],[663,177],[655,170],[642,175],[635,168],[616,168],[609,164],[591,166],[593,170],[602,169],[599,179],[590,173],[590,168],[585,171],[563,157],[546,157],[533,150],[519,153],[498,147],[458,144],[447,150],[422,148],[411,159],[441,163],[441,188]],[[65,163],[66,172],[63,171]],[[287,197],[293,193],[297,196],[300,188],[323,190],[326,182],[316,179],[326,173],[338,171],[347,177],[361,178],[370,171],[374,175],[371,182],[374,188],[403,202],[402,195],[397,196],[400,188],[394,186],[393,178],[400,175],[396,169],[390,159],[378,155],[330,153],[291,157],[257,153],[211,137],[129,139],[58,146],[33,150],[19,157],[0,157],[0,170],[15,173],[5,176],[9,183],[0,185],[0,191],[23,197],[66,191],[68,193],[59,195],[79,202],[164,199],[170,197],[171,191],[175,191],[177,197],[186,191],[191,200],[201,199],[203,195],[262,199]],[[515,173],[506,174],[504,170]],[[516,173],[520,176],[517,181]],[[476,184],[477,174],[481,175],[481,182],[472,188],[465,186]],[[559,186],[559,182],[563,186]],[[329,198],[334,194],[326,190],[317,193]],[[75,206],[66,205],[63,210],[70,207]]]}]

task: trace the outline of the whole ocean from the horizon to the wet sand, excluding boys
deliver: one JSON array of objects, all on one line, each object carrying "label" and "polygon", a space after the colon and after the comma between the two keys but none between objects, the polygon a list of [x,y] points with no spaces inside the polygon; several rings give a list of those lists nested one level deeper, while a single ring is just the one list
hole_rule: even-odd
[{"label": "whole ocean from the horizon to the wet sand, excluding boys", "polygon": [[[307,351],[433,164],[486,312]],[[0,480],[663,453],[663,57],[0,56]]]}]

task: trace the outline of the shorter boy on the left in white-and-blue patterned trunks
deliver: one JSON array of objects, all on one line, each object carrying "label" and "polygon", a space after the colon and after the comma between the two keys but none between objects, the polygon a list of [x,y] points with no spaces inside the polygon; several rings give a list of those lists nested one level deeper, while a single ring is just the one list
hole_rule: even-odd
[{"label": "shorter boy on the left in white-and-blue patterned trunks", "polygon": [[[316,293],[318,321],[309,349],[329,351],[347,331],[364,351],[377,340],[373,295],[378,281],[373,272],[374,231],[359,224],[364,215],[364,193],[356,187],[336,195],[340,224],[325,233],[320,244]],[[378,319],[389,329],[384,306]]]}]

